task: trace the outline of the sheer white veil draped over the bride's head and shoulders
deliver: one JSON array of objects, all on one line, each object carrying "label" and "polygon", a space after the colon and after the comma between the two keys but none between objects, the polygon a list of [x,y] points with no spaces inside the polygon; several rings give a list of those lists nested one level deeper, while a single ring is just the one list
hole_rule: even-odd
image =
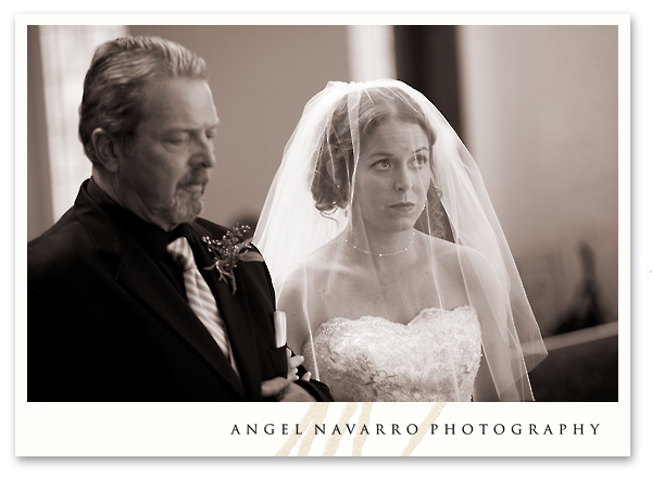
[{"label": "sheer white veil draped over the bride's head and shoulders", "polygon": [[[387,123],[390,116],[393,123]],[[383,177],[393,167],[381,155],[361,162],[368,131],[383,122],[408,125],[415,151],[419,140],[427,141],[427,150],[403,164],[401,180],[417,199],[405,194],[390,212],[418,213],[394,241],[383,236],[393,225],[374,216],[381,188],[363,184],[365,171]],[[296,353],[311,346],[329,318],[379,316],[408,324],[424,309],[469,305],[480,324],[482,366],[499,399],[534,400],[527,373],[547,352],[479,170],[441,113],[408,85],[329,83],[310,100],[253,243],[271,271],[278,309],[286,311],[288,300],[299,303],[288,317],[289,328],[305,330],[304,343],[290,343]],[[306,367],[318,378],[317,363]]]}]

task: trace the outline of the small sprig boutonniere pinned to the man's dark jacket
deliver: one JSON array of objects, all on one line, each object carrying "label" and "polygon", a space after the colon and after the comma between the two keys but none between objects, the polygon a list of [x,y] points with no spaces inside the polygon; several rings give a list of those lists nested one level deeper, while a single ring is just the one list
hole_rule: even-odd
[{"label": "small sprig boutonniere pinned to the man's dark jacket", "polygon": [[233,293],[236,294],[236,276],[234,271],[238,262],[263,262],[263,255],[256,252],[251,244],[251,239],[244,239],[242,234],[249,231],[248,225],[234,227],[228,230],[222,240],[211,240],[211,237],[202,237],[206,243],[209,252],[213,255],[213,264],[205,269],[217,269],[220,279],[225,283],[230,281]]}]

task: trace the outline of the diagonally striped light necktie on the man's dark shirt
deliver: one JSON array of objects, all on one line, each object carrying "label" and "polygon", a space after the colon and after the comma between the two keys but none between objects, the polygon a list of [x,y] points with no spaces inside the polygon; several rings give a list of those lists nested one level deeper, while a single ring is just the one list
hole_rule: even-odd
[{"label": "diagonally striped light necktie on the man's dark shirt", "polygon": [[[224,321],[217,312],[217,304],[206,281],[197,269],[192,250],[186,237],[179,237],[167,246],[167,252],[179,265],[184,267],[184,285],[186,286],[186,297],[190,309],[197,317],[206,327],[220,349],[224,352],[227,360],[238,374],[238,367],[234,353],[230,350],[228,336]],[[239,375],[239,374],[238,374]]]}]

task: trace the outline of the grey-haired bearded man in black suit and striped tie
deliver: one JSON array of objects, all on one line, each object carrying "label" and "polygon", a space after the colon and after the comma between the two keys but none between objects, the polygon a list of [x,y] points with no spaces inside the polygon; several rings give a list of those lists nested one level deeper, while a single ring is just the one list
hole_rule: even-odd
[{"label": "grey-haired bearded man in black suit and striped tie", "polygon": [[276,347],[265,264],[240,260],[235,284],[209,269],[203,238],[227,229],[197,218],[218,125],[206,76],[161,38],[96,51],[79,108],[92,176],[28,243],[29,401],[331,400],[288,375],[302,359]]}]

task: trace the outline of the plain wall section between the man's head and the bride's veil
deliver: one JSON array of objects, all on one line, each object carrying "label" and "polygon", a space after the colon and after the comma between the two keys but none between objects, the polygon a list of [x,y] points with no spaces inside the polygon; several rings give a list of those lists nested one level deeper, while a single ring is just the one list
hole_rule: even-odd
[{"label": "plain wall section between the man's head and the bride's veil", "polygon": [[346,26],[130,26],[203,58],[220,116],[217,165],[202,216],[258,217],[303,106],[329,80],[348,81]]}]

